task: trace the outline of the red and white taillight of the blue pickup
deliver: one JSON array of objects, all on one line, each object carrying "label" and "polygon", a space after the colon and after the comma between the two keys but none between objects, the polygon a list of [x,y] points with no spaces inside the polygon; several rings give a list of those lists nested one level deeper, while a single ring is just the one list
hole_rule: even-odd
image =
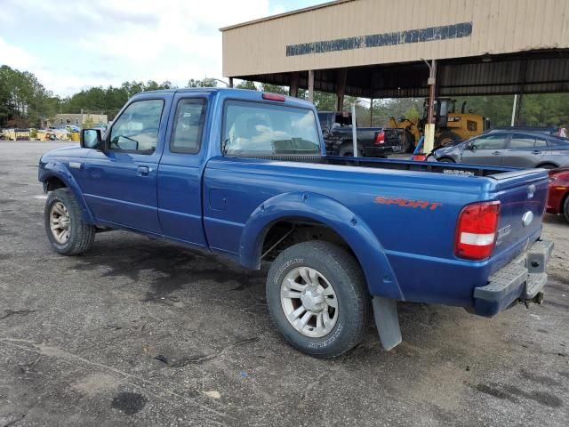
[{"label": "red and white taillight of the blue pickup", "polygon": [[493,251],[500,218],[500,202],[481,202],[461,210],[454,254],[467,260],[484,260]]}]

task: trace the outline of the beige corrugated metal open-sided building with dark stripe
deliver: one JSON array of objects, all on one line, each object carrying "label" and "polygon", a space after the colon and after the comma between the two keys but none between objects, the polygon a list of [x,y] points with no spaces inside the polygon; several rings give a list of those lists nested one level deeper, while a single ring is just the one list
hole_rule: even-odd
[{"label": "beige corrugated metal open-sided building with dark stripe", "polygon": [[426,97],[429,83],[434,96],[569,92],[567,0],[338,0],[221,32],[230,82],[336,93],[338,109],[344,94]]}]

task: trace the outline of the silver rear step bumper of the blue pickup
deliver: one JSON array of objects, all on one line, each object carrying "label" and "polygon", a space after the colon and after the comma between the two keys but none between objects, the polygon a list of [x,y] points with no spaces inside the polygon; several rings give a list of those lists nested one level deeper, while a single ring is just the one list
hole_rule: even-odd
[{"label": "silver rear step bumper of the blue pickup", "polygon": [[553,242],[538,240],[525,253],[493,273],[488,285],[474,290],[475,312],[490,317],[517,300],[541,302],[552,250]]}]

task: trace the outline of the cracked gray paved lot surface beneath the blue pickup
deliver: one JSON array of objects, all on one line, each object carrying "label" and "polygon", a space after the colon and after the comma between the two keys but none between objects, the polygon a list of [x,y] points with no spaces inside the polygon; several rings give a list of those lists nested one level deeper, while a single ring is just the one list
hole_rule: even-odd
[{"label": "cracked gray paved lot surface beneath the blue pickup", "polygon": [[400,303],[404,342],[371,329],[311,359],[271,326],[265,272],[125,232],[79,257],[44,235],[40,155],[0,142],[0,427],[569,425],[569,224],[541,306],[493,319]]}]

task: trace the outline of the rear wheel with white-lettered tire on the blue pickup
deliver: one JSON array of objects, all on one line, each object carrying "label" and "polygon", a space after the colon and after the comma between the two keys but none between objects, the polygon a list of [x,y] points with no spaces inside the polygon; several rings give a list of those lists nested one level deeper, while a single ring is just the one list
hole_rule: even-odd
[{"label": "rear wheel with white-lettered tire on the blue pickup", "polygon": [[[310,301],[305,305],[305,301],[299,297],[287,298],[291,293],[295,296],[304,294],[305,297],[306,294],[314,294],[316,286],[307,286],[307,280],[300,276],[305,271],[305,277],[310,278],[310,269],[317,272],[314,278],[319,287],[325,286],[319,294],[316,293],[322,295],[324,301],[324,309],[320,312],[315,311],[318,307],[313,306],[312,310],[306,308]],[[289,278],[294,278],[297,273],[299,278],[291,282]],[[314,278],[310,278],[311,284],[315,283]],[[293,287],[287,287],[291,283],[296,285],[294,291]],[[332,287],[332,294],[329,286]],[[296,289],[301,288],[302,293],[297,292]],[[276,328],[294,348],[310,356],[340,356],[361,342],[370,324],[371,297],[367,293],[362,270],[348,251],[329,242],[309,241],[285,249],[268,271],[266,290],[268,310]],[[333,307],[334,304],[337,308]],[[293,326],[289,320],[289,317],[295,318],[291,310],[300,311],[296,315],[299,322],[310,316],[302,331],[299,330],[301,326]],[[328,322],[325,318],[328,318]]]}]

